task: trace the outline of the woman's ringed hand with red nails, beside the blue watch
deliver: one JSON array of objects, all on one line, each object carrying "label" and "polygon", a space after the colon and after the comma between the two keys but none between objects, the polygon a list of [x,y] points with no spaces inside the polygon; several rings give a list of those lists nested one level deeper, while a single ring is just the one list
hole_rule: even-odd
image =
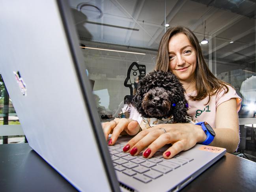
[{"label": "woman's ringed hand with red nails, beside the blue watch", "polygon": [[206,140],[200,125],[191,123],[160,124],[139,132],[132,138],[123,151],[138,155],[143,149],[144,157],[152,157],[161,147],[172,144],[163,153],[164,158],[172,158],[180,151],[186,151],[198,142]]}]

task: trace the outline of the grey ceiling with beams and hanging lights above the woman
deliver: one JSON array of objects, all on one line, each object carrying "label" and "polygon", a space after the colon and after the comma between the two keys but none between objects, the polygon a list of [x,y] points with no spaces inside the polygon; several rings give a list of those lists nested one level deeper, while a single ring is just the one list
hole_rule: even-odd
[{"label": "grey ceiling with beams and hanging lights above the woman", "polygon": [[71,0],[70,4],[81,41],[157,50],[164,18],[170,26],[189,27],[199,41],[206,23],[209,44],[202,45],[206,58],[247,63],[255,71],[254,0]]}]

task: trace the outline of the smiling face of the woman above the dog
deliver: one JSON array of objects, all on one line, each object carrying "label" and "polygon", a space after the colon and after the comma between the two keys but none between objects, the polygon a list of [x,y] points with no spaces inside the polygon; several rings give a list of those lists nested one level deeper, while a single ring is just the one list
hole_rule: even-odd
[{"label": "smiling face of the woman above the dog", "polygon": [[179,33],[171,37],[168,43],[169,70],[181,82],[194,80],[196,71],[196,50],[192,47],[187,35]]}]

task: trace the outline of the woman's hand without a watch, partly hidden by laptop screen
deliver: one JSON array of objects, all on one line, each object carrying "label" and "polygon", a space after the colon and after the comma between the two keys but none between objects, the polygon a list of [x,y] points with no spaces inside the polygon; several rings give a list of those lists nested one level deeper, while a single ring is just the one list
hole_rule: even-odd
[{"label": "woman's hand without a watch, partly hidden by laptop screen", "polygon": [[108,140],[108,135],[112,134],[108,145],[114,145],[120,135],[135,135],[140,130],[140,125],[137,121],[126,118],[116,118],[110,122],[101,123],[101,125],[106,140]]}]

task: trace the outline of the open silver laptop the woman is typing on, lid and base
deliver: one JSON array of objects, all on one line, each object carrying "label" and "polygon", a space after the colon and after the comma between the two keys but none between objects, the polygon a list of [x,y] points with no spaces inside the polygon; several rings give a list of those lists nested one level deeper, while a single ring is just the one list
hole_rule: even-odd
[{"label": "open silver laptop the woman is typing on, lid and base", "polygon": [[68,2],[0,7],[0,73],[28,143],[77,190],[177,191],[226,153],[197,144],[167,161],[160,150],[129,169],[127,138],[105,141]]}]

